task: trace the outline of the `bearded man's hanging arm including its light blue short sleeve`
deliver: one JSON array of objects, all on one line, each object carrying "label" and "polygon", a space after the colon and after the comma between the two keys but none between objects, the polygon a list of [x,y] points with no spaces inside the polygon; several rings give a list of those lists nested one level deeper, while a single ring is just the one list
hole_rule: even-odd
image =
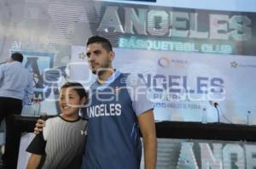
[{"label": "bearded man's hanging arm including its light blue short sleeve", "polygon": [[148,99],[148,87],[136,75],[128,76],[126,87],[132,100],[132,108],[136,112],[137,121],[143,134],[145,169],[155,169],[156,134],[154,106]]}]

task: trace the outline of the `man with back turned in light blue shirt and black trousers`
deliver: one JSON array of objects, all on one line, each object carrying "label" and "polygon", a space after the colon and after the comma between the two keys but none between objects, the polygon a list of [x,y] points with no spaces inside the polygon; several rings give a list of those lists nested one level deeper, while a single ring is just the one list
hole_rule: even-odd
[{"label": "man with back turned in light blue shirt and black trousers", "polygon": [[[0,123],[6,119],[6,141],[3,164],[16,168],[20,138],[11,115],[20,115],[22,105],[32,99],[32,74],[22,65],[23,55],[11,55],[9,62],[0,66]],[[14,147],[15,146],[15,147]]]}]

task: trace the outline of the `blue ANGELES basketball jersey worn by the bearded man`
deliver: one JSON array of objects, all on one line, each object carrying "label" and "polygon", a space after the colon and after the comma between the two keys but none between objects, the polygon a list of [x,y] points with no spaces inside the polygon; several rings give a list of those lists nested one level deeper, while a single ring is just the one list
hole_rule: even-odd
[{"label": "blue ANGELES basketball jersey worn by the bearded man", "polygon": [[107,85],[95,82],[91,86],[84,169],[140,168],[142,144],[137,115],[153,107],[146,93],[138,97],[140,101],[134,99],[133,88],[137,86],[127,82],[127,77],[117,71]]}]

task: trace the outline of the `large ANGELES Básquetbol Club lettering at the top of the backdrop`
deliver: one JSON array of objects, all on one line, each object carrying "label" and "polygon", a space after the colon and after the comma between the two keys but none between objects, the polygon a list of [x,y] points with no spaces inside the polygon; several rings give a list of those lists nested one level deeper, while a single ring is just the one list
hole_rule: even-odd
[{"label": "large ANGELES B\u00e1squetbol Club lettering at the top of the backdrop", "polygon": [[[148,8],[145,4],[128,3],[96,5],[100,9],[99,22],[93,25],[92,31],[112,39],[114,47],[243,54],[246,52],[238,50],[236,43],[253,41],[253,15],[247,13],[218,11],[218,14],[212,14],[211,10]],[[253,48],[251,50],[253,52]],[[248,51],[247,54],[251,53]]]}]

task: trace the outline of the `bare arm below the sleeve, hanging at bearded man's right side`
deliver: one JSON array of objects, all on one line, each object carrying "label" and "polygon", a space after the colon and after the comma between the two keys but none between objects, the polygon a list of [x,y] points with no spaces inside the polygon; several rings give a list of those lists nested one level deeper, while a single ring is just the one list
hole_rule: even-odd
[{"label": "bare arm below the sleeve, hanging at bearded man's right side", "polygon": [[145,111],[137,119],[143,134],[145,169],[155,169],[157,149],[153,110]]}]

